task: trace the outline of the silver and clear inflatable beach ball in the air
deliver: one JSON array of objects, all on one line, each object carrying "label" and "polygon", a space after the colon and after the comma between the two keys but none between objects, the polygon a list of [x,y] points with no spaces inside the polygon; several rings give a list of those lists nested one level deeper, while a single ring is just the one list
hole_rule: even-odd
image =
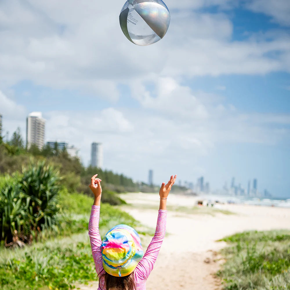
[{"label": "silver and clear inflatable beach ball in the air", "polygon": [[124,35],[134,44],[145,46],[164,37],[170,13],[162,0],[128,0],[119,20]]}]

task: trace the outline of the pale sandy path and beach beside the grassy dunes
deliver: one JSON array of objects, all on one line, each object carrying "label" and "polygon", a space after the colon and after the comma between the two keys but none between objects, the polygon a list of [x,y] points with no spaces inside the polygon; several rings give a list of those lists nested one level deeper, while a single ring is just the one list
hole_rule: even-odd
[{"label": "pale sandy path and beach beside the grassy dunes", "polygon": [[[124,208],[128,213],[142,224],[155,228],[158,194],[130,193],[122,195],[122,198],[133,205]],[[196,200],[197,197],[171,195],[168,206],[193,206]],[[156,210],[150,209],[152,206]],[[216,207],[236,214],[216,213],[213,216],[168,211],[166,232],[169,235],[164,239],[147,280],[147,290],[221,289],[220,281],[213,274],[222,263],[216,251],[226,244],[216,240],[245,230],[290,229],[290,209],[232,204]],[[146,238],[143,242],[144,250],[150,240]]]}]

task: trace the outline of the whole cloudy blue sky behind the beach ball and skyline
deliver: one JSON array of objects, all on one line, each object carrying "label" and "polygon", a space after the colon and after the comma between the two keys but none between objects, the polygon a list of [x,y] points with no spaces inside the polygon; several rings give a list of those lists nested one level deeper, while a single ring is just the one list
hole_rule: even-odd
[{"label": "whole cloudy blue sky behind the beach ball and skyline", "polygon": [[166,1],[171,24],[147,47],[119,27],[124,3],[0,3],[5,131],[41,111],[46,141],[104,144],[104,165],[135,180],[177,174],[211,188],[290,197],[290,3]]}]

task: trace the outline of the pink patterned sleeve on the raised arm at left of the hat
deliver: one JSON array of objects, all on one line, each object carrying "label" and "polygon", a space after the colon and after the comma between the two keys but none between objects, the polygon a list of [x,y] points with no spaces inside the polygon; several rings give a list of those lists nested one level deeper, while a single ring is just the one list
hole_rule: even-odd
[{"label": "pink patterned sleeve on the raised arm at left of the hat", "polygon": [[102,240],[99,234],[99,218],[100,206],[93,205],[89,220],[89,236],[97,274],[99,274],[104,269],[102,252],[100,249]]}]

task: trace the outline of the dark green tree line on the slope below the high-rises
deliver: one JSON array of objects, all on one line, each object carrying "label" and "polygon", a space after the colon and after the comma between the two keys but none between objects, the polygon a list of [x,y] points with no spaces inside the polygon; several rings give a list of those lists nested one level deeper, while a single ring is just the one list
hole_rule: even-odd
[{"label": "dark green tree line on the slope below the high-rises", "polygon": [[26,148],[17,128],[10,141],[3,142],[0,139],[0,173],[11,174],[15,171],[21,171],[22,166],[30,164],[30,160],[46,160],[47,163],[59,168],[60,175],[63,177],[62,183],[66,185],[68,191],[77,191],[89,194],[88,182],[90,177],[98,173],[102,178],[104,188],[112,191],[137,191],[138,184],[131,178],[123,174],[116,174],[110,170],[102,170],[89,166],[85,168],[79,158],[70,157],[66,148],[59,150],[57,143],[54,148],[46,144],[39,149],[36,145]]}]

